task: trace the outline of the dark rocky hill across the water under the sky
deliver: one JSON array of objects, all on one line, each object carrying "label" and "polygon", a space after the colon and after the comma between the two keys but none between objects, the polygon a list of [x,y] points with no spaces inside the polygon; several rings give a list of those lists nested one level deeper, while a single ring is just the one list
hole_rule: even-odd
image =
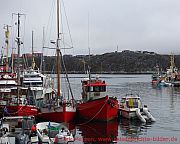
[{"label": "dark rocky hill across the water under the sky", "polygon": [[[69,73],[84,73],[91,67],[92,73],[152,73],[156,65],[166,70],[170,65],[170,55],[160,55],[148,51],[129,51],[104,53],[101,55],[64,55],[66,69]],[[40,65],[40,57],[35,58]],[[56,70],[56,58],[44,57],[45,71]],[[28,65],[31,59],[28,60]],[[180,55],[175,55],[175,64],[180,68]],[[62,68],[63,70],[63,68]]]}]

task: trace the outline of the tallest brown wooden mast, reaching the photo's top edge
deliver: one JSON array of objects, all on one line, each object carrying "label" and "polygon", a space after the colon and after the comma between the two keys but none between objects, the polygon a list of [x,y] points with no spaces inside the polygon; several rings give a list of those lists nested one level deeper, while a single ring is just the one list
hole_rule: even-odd
[{"label": "tallest brown wooden mast, reaching the photo's top edge", "polygon": [[60,48],[59,48],[59,40],[60,40],[60,26],[59,26],[59,0],[57,0],[57,96],[60,96]]}]

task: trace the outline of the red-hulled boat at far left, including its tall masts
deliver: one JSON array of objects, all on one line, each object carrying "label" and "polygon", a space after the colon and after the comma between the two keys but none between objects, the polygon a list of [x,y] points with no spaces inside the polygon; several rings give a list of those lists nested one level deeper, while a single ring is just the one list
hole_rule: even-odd
[{"label": "red-hulled boat at far left, including its tall masts", "polygon": [[[19,57],[20,57],[20,15],[18,15],[18,69],[17,73],[13,71],[13,59],[12,68],[8,65],[8,37],[9,30],[6,34],[6,62],[5,65],[0,67],[0,108],[1,113],[5,116],[32,116],[36,115],[38,110],[33,103],[33,97],[28,97],[27,89],[20,86],[20,67],[19,67]],[[12,54],[13,55],[13,54]],[[3,62],[3,59],[1,60]]]}]

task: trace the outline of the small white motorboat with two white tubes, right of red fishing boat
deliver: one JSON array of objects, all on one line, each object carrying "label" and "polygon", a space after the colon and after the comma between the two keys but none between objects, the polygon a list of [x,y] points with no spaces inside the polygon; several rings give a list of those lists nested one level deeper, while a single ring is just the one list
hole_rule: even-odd
[{"label": "small white motorboat with two white tubes, right of red fishing boat", "polygon": [[142,105],[141,99],[137,94],[127,94],[122,97],[119,103],[119,114],[128,119],[138,118],[143,123],[156,121],[147,106]]}]

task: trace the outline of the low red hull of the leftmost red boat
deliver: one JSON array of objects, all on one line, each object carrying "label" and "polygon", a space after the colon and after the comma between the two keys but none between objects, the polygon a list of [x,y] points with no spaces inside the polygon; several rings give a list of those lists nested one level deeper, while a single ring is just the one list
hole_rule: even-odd
[{"label": "low red hull of the leftmost red boat", "polygon": [[4,108],[5,116],[35,116],[38,110],[32,105],[6,106]]}]

